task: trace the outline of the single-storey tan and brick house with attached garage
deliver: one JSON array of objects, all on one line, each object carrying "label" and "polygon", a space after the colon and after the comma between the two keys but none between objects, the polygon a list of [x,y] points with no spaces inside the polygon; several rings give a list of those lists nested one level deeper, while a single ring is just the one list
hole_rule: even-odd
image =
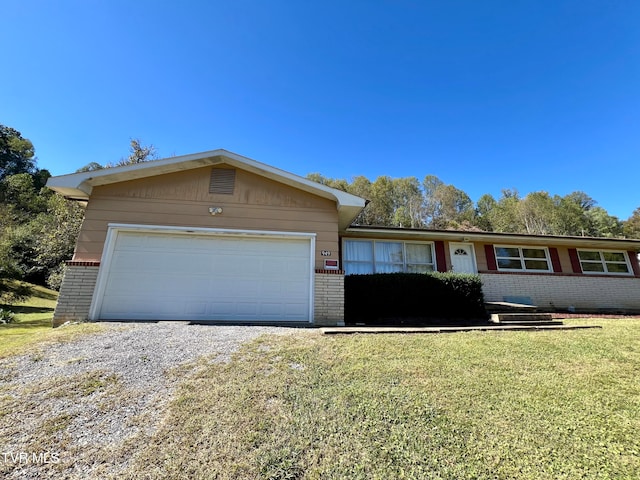
[{"label": "single-storey tan and brick house with attached garage", "polygon": [[458,271],[486,300],[640,312],[640,240],[352,225],[366,200],[225,151],[52,177],[86,203],[68,320],[336,325],[344,275]]}]

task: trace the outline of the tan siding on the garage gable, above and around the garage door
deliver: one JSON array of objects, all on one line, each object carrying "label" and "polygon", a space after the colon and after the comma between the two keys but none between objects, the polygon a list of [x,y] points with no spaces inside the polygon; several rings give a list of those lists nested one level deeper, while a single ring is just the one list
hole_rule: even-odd
[{"label": "tan siding on the garage gable, above and around the garage door", "polygon": [[[233,195],[209,193],[211,167],[95,187],[74,260],[100,260],[109,223],[315,233],[316,268],[338,251],[334,201],[238,170]],[[222,207],[212,216],[209,207]]]}]

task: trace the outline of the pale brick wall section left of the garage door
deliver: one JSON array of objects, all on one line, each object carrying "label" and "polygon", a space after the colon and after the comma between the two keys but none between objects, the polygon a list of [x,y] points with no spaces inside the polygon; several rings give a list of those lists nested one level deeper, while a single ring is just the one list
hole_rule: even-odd
[{"label": "pale brick wall section left of the garage door", "polygon": [[82,322],[89,318],[91,298],[98,278],[96,262],[69,262],[60,287],[53,326],[64,322]]}]

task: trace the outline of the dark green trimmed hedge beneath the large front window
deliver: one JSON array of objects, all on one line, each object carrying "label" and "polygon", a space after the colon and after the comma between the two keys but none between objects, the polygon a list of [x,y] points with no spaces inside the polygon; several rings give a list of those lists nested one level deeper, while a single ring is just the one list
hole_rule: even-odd
[{"label": "dark green trimmed hedge beneath the large front window", "polygon": [[487,318],[478,275],[348,275],[344,288],[348,323],[429,324]]}]

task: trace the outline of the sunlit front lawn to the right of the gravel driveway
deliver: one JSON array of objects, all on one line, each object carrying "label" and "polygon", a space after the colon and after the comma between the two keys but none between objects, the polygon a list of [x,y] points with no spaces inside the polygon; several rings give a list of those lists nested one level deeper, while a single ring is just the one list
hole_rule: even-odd
[{"label": "sunlit front lawn to the right of the gravel driveway", "polygon": [[120,478],[635,479],[640,320],[597,323],[264,337],[187,377]]}]

